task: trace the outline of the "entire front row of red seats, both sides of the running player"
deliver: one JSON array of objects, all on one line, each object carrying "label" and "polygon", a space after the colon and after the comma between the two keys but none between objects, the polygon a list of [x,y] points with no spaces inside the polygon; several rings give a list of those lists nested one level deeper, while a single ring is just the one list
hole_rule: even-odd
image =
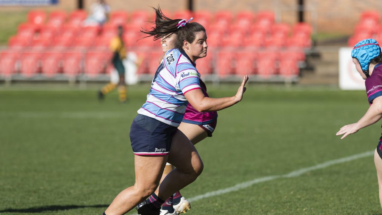
[{"label": "entire front row of red seats, both sides of the running player", "polygon": [[[136,54],[142,58],[138,74],[153,74],[162,55],[160,50],[137,49]],[[81,73],[88,77],[108,73],[111,54],[108,50],[92,49],[18,49],[3,50],[0,54],[0,74],[9,77],[20,73],[26,78],[41,73],[47,78],[59,73],[75,77]],[[298,62],[305,60],[301,49],[220,49],[210,50],[207,57],[197,60],[197,68],[202,74],[213,74],[219,77],[227,75],[258,74],[270,77],[298,75]]]}]

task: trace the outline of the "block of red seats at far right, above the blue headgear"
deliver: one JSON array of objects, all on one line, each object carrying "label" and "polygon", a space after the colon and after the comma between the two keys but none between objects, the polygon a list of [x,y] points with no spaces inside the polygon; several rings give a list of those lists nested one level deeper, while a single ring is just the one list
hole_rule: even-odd
[{"label": "block of red seats at far right, above the blue headgear", "polygon": [[353,47],[363,39],[374,38],[382,41],[380,17],[378,11],[367,10],[361,13],[361,18],[354,28],[353,35],[348,40],[348,46]]}]

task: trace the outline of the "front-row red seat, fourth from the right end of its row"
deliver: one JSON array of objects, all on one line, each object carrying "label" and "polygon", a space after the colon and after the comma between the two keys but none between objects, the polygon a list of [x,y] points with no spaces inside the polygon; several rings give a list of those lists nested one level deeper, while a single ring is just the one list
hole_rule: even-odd
[{"label": "front-row red seat, fourth from the right end of its row", "polygon": [[234,54],[232,49],[222,49],[217,52],[215,58],[215,73],[221,78],[225,78],[227,75],[233,73],[232,62]]}]

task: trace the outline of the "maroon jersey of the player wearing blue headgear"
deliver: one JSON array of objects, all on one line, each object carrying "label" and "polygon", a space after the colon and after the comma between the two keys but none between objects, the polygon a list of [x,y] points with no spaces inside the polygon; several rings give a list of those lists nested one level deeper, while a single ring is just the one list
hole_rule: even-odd
[{"label": "maroon jersey of the player wearing blue headgear", "polygon": [[369,104],[378,96],[382,96],[382,64],[377,64],[369,78],[365,80],[366,94]]}]

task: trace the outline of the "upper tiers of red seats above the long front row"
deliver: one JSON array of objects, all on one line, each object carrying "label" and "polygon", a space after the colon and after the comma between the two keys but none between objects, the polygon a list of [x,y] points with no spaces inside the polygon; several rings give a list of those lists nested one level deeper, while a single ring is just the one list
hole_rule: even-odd
[{"label": "upper tiers of red seats above the long front row", "polygon": [[[181,12],[185,14],[190,13],[189,11],[178,11],[179,14],[181,14]],[[210,14],[209,12],[199,11],[195,12],[195,14],[199,14],[199,16],[203,17],[199,23],[201,23],[207,29],[207,35],[209,37],[210,35],[214,37],[214,34],[218,35],[217,37],[221,37],[223,35],[223,38],[227,38],[227,40],[235,39],[237,37],[239,41],[243,41],[241,37],[245,37],[250,38],[248,43],[251,43],[253,40],[255,40],[255,42],[261,43],[261,46],[265,46],[265,39],[270,40],[271,44],[275,44],[275,42],[272,41],[281,41],[281,43],[283,43],[286,41],[288,36],[291,35],[291,38],[293,38],[292,40],[297,42],[303,41],[302,43],[307,48],[311,46],[310,37],[312,28],[309,24],[297,23],[295,26],[293,26],[292,31],[292,28],[288,24],[274,23],[273,12],[260,12],[257,14],[258,21],[252,22],[248,21],[248,19],[251,20],[251,18],[254,17],[254,13],[242,11],[241,13],[238,13],[236,17],[237,20],[241,21],[232,25],[230,25],[229,21],[232,17],[230,11],[217,12],[217,19],[212,24],[206,21],[209,20],[209,18],[207,18],[210,17],[208,15]],[[73,11],[70,15],[69,21],[65,24],[65,13],[62,11],[52,12],[46,25],[43,25],[41,22],[41,20],[44,20],[44,15],[44,12],[32,11],[29,14],[29,23],[24,23],[19,26],[18,34],[10,39],[9,44],[12,46],[28,46],[34,44],[39,46],[41,44],[45,45],[45,43],[58,44],[59,46],[91,46],[91,43],[106,45],[116,32],[115,21],[113,20],[124,20],[127,17],[127,13],[125,11],[114,11],[112,12],[110,21],[106,23],[102,28],[99,26],[89,26],[84,28],[81,26],[81,19],[86,17],[86,12],[81,10]],[[140,44],[136,44],[136,41],[144,36],[143,34],[139,34],[139,30],[142,27],[147,29],[151,26],[148,22],[144,22],[146,19],[145,17],[147,17],[147,12],[145,11],[135,11],[133,12],[132,17],[134,21],[120,24],[123,24],[124,26],[127,45],[139,46]],[[248,22],[243,21],[245,19],[247,19]],[[37,33],[37,38],[41,38],[39,39],[40,41],[36,41],[36,38],[33,38],[36,37],[35,33]],[[96,42],[94,39],[89,40],[89,38],[95,37],[97,40]],[[155,44],[149,39],[140,42],[145,46],[151,46]],[[225,42],[220,43],[222,43],[223,46],[224,44],[227,44]],[[214,45],[214,41],[212,44]],[[293,44],[293,42],[288,44]],[[276,44],[276,46],[279,45]],[[302,45],[297,46],[301,47]]]}]

